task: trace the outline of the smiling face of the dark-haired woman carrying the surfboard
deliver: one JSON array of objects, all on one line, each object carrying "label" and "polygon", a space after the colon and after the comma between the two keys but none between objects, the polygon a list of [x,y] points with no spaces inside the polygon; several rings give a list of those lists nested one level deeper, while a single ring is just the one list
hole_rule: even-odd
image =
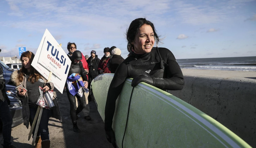
[{"label": "smiling face of the dark-haired woman carrying the surfboard", "polygon": [[139,32],[132,42],[134,45],[134,53],[149,53],[152,50],[154,43],[155,39],[152,27],[148,24],[144,24],[139,28]]}]

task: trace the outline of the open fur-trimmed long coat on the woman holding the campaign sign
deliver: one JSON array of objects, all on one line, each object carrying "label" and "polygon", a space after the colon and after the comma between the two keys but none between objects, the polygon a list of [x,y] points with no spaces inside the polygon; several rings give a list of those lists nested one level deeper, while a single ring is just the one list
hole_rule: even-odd
[{"label": "open fur-trimmed long coat on the woman holding the campaign sign", "polygon": [[[18,71],[19,70],[15,70],[12,75],[11,75],[11,80],[12,82],[14,82],[14,84],[16,86],[19,86],[21,85],[22,87],[25,87],[27,86],[27,76],[26,75],[23,75],[23,81],[22,82],[19,82],[19,79],[18,79]],[[49,83],[50,86],[51,86],[51,90],[54,89],[54,85],[52,82],[47,82],[47,80],[45,78],[43,78],[41,76],[42,80],[44,80],[45,83]],[[28,126],[29,126],[29,118],[30,118],[30,109],[29,109],[29,105],[28,105],[28,94],[27,92],[25,93],[25,96],[23,97],[20,97],[19,95],[17,95],[17,97],[19,99],[22,99],[22,118],[24,120],[23,124],[27,127],[28,129]],[[54,95],[53,98],[52,98],[52,101],[55,105],[55,107],[53,107],[53,109],[51,109],[51,117],[55,118],[55,119],[59,119],[60,121],[61,120],[61,116],[60,116],[60,109],[59,109],[59,104],[57,102],[57,98],[56,96]]]}]

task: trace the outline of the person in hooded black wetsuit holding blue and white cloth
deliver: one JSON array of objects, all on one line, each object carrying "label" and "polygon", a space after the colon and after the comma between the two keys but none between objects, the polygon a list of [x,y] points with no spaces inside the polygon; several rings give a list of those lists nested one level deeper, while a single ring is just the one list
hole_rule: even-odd
[{"label": "person in hooded black wetsuit holding blue and white cloth", "polygon": [[[80,78],[80,79],[78,79],[78,81],[80,80],[80,81],[84,82],[85,83],[84,87],[87,88],[88,80],[87,80],[85,69],[83,68],[82,62],[80,60],[82,60],[82,53],[80,51],[74,51],[74,53],[71,56],[71,66],[70,66],[70,71],[68,73],[68,76],[70,76],[72,74],[80,75],[82,77],[82,80]],[[80,129],[78,129],[78,127],[77,127],[76,116],[86,106],[85,95],[84,95],[83,90],[81,89],[82,87],[80,88],[81,90],[79,92],[77,92],[77,93],[74,93],[74,91],[72,92],[72,90],[75,90],[74,88],[77,87],[76,86],[77,81],[76,80],[74,82],[70,81],[71,80],[70,78],[67,79],[67,85],[66,85],[67,97],[70,101],[70,118],[73,123],[73,131],[80,132]],[[70,83],[70,85],[69,85],[69,83]],[[70,87],[72,87],[72,89],[70,89]],[[77,100],[80,103],[79,107],[76,106],[75,97],[77,97]],[[76,107],[77,107],[77,109],[76,109]]]}]

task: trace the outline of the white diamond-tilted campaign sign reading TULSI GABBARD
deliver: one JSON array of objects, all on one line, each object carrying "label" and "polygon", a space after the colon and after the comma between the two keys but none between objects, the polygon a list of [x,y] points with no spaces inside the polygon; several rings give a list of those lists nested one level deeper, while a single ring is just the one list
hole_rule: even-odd
[{"label": "white diamond-tilted campaign sign reading TULSI GABBARD", "polygon": [[47,80],[51,71],[51,82],[57,90],[63,92],[71,61],[47,29],[31,65]]}]

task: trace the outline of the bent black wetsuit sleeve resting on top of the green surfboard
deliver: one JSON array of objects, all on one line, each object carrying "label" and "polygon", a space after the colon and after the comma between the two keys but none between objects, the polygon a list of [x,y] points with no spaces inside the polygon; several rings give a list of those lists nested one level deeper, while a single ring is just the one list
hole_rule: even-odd
[{"label": "bent black wetsuit sleeve resting on top of the green surfboard", "polygon": [[182,90],[184,78],[174,55],[168,49],[159,48],[159,52],[168,66],[164,69],[165,78],[153,78],[154,86],[163,90]]}]

